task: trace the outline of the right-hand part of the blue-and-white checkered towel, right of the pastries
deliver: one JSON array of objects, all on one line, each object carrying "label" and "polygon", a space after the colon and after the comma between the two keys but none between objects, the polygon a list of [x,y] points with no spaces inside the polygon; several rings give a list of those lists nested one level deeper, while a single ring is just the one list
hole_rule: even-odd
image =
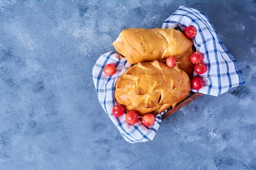
[{"label": "right-hand part of the blue-and-white checkered towel, right of the pastries", "polygon": [[[180,27],[182,31],[186,26],[193,25],[200,34],[192,38],[194,45],[198,44],[198,51],[204,55],[203,63],[207,71],[200,75],[209,79],[204,80],[205,86],[193,92],[218,96],[230,88],[245,84],[242,71],[235,58],[229,53],[220,36],[204,13],[193,8],[180,7],[173,15],[164,21],[162,29]],[[194,72],[194,76],[197,75]]]}]

